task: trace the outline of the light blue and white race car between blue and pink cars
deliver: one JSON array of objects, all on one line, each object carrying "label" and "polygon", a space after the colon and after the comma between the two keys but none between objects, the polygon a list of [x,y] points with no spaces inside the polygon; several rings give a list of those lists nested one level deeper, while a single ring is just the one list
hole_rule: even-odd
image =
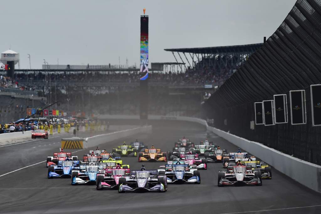
[{"label": "light blue and white race car between blue and pink cars", "polygon": [[106,164],[96,163],[96,165],[80,165],[80,170],[73,170],[71,174],[71,184],[96,184],[97,175],[105,175]]}]

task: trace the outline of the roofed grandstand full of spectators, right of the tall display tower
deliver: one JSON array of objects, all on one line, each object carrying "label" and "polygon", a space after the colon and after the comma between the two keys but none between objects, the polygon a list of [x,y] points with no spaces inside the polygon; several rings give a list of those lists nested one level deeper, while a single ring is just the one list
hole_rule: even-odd
[{"label": "roofed grandstand full of spectators, right of the tall display tower", "polygon": [[[180,60],[184,63],[180,65],[181,71],[184,70],[193,77],[202,76],[201,81],[204,84],[220,86],[262,44],[164,50],[172,52],[176,62]],[[179,58],[175,56],[175,53]],[[183,65],[184,67],[182,67]],[[189,66],[186,67],[186,65]]]}]

